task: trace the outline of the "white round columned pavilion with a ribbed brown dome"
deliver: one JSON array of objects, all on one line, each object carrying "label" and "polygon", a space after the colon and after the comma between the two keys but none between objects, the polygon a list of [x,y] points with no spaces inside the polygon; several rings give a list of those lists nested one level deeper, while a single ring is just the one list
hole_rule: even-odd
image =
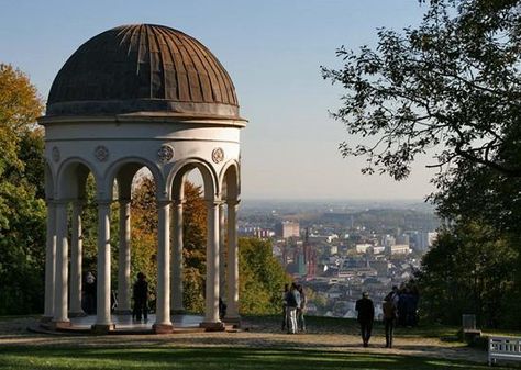
[{"label": "white round columned pavilion with a ribbed brown dome", "polygon": [[[81,215],[89,173],[98,208],[92,329],[114,329],[112,289],[118,292],[118,313],[131,312],[131,192],[134,177],[145,167],[157,190],[154,330],[170,333],[170,313],[184,310],[184,183],[195,169],[202,178],[208,211],[201,326],[223,327],[219,317],[223,287],[224,321],[239,322],[236,209],[240,131],[246,121],[240,116],[233,82],[215,56],[193,37],[167,26],[138,24],[106,31],[65,63],[51,88],[46,115],[38,122],[45,126],[46,143],[44,319],[55,328],[67,328],[70,317],[82,314]],[[120,205],[118,287],[111,282],[112,202]],[[226,260],[220,261],[220,256]]]}]

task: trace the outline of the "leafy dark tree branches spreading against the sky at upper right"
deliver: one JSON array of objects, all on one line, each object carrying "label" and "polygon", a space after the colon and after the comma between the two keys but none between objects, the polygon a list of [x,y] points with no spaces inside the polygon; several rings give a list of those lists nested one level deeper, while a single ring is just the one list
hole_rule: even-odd
[{"label": "leafy dark tree branches spreading against the sky at upper right", "polygon": [[464,161],[521,177],[521,2],[429,3],[417,29],[380,29],[376,49],[342,46],[345,65],[322,67],[346,89],[333,116],[373,139],[344,142],[342,155],[365,156],[363,172],[401,180],[419,154],[439,146],[433,166]]}]

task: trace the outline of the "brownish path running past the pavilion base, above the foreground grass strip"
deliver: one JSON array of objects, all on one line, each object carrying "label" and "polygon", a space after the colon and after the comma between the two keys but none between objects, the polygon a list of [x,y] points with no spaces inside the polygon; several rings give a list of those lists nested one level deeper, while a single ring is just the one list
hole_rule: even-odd
[{"label": "brownish path running past the pavilion base, above the foreground grass strip", "polygon": [[[63,336],[32,334],[26,327],[35,319],[21,318],[0,322],[0,348],[3,346],[27,347],[245,347],[245,348],[299,348],[326,351],[364,354],[393,354],[485,363],[484,350],[466,347],[461,343],[446,343],[435,338],[397,337],[392,349],[385,348],[385,338],[372,338],[369,348],[363,348],[356,335],[312,333],[288,335],[266,332],[265,327],[252,326],[236,333],[185,333],[171,335],[118,335],[118,336]],[[247,323],[246,323],[247,325]]]}]

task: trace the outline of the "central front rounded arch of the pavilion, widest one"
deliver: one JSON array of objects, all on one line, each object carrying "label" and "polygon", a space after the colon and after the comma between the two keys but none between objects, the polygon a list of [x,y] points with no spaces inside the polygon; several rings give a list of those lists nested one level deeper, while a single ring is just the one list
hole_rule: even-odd
[{"label": "central front rounded arch of the pavilion, widest one", "polygon": [[124,193],[124,197],[130,198],[132,180],[135,173],[143,167],[146,167],[151,171],[156,184],[157,194],[163,193],[167,197],[168,192],[166,190],[167,188],[165,188],[163,173],[153,161],[141,157],[124,157],[112,162],[104,175],[107,179],[106,186],[108,187],[106,192],[112,198],[112,184],[114,180],[118,179],[122,182],[119,187],[120,191]]}]

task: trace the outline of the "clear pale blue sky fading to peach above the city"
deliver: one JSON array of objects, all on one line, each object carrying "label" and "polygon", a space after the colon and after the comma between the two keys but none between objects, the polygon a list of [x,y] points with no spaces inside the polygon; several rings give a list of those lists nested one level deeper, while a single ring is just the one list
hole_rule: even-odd
[{"label": "clear pale blue sky fading to peach above the city", "polygon": [[320,66],[342,66],[335,49],[375,45],[378,27],[402,30],[425,11],[418,0],[0,0],[0,61],[27,74],[45,99],[67,58],[90,37],[122,24],[154,23],[204,44],[234,81],[241,115],[242,198],[421,200],[433,170],[421,158],[406,181],[365,176],[342,158],[348,137],[330,117],[342,89]]}]

